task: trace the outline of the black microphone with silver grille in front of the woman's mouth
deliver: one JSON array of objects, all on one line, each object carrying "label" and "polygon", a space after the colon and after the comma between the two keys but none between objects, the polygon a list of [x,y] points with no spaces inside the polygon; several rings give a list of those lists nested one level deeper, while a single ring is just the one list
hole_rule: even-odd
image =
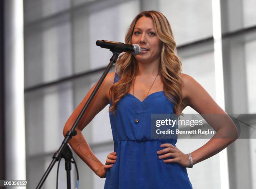
[{"label": "black microphone with silver grille in front of the woman's mouth", "polygon": [[124,44],[122,42],[114,42],[107,40],[97,40],[96,45],[102,48],[110,49],[111,51],[117,52],[129,52],[133,55],[138,55],[141,53],[141,47],[138,44]]}]

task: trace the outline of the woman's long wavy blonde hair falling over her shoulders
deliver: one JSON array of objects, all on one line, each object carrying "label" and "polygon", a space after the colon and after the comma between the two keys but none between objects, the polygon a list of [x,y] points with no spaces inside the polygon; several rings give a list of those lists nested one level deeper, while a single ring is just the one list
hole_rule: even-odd
[{"label": "woman's long wavy blonde hair falling over her shoulders", "polygon": [[[182,103],[182,63],[181,59],[177,56],[176,42],[174,41],[172,29],[166,17],[161,12],[154,10],[139,13],[134,18],[126,33],[125,43],[131,44],[135,24],[143,16],[153,19],[156,35],[162,42],[159,74],[164,84],[165,96],[174,102],[174,113],[180,115],[179,107]],[[113,102],[109,111],[113,112],[114,115],[118,101],[129,92],[133,78],[135,78],[138,72],[138,63],[135,57],[131,53],[121,54],[116,62],[115,72],[119,75],[120,80],[113,84],[109,91],[109,96]]]}]

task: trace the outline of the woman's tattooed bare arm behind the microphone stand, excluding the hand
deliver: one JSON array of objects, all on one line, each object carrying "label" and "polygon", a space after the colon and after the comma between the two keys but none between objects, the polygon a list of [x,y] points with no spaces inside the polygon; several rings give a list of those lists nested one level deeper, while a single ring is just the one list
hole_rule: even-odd
[{"label": "woman's tattooed bare arm behind the microphone stand, excluding the hand", "polygon": [[[101,178],[105,177],[104,165],[99,161],[99,159],[97,159],[95,154],[93,154],[92,149],[84,139],[82,130],[84,129],[84,127],[87,126],[87,124],[91,122],[95,115],[99,113],[109,103],[108,92],[110,87],[113,85],[114,77],[114,72],[109,73],[105,77],[105,80],[102,82],[102,85],[95,94],[94,99],[84,113],[84,116],[79,122],[78,127],[76,128],[77,135],[73,136],[72,139],[69,141],[70,146],[76,152],[76,154],[92,169],[93,172],[95,172],[95,174],[97,174]],[[96,85],[97,83],[90,89],[82,102],[78,105],[78,107],[74,110],[74,112],[67,120],[63,129],[64,136],[67,131],[69,131],[73,126],[75,120],[77,119],[79,113],[84,107],[84,104],[87,102],[87,99],[90,97],[90,94],[92,93]]]}]

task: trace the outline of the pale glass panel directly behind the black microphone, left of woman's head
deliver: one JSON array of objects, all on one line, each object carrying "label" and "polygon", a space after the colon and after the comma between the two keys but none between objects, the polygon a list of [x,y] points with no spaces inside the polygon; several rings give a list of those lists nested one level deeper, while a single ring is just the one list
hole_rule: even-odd
[{"label": "pale glass panel directly behind the black microphone, left of woman's head", "polygon": [[[122,14],[122,12],[126,13]],[[96,46],[95,42],[97,40],[124,42],[125,32],[138,12],[138,0],[91,14],[83,10],[74,12],[74,72],[107,66],[112,52]]]}]

